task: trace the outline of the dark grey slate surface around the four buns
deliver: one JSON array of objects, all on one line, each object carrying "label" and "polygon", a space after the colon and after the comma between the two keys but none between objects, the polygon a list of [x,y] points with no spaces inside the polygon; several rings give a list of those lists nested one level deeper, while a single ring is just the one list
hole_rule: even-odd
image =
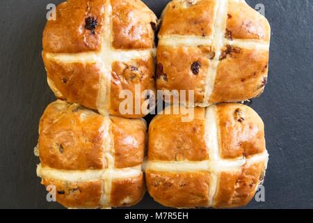
[{"label": "dark grey slate surface around the four buns", "polygon": [[[55,100],[41,59],[46,6],[60,2],[0,1],[0,208],[62,208],[45,200],[33,155],[39,118]],[[167,2],[145,1],[158,16]],[[252,103],[270,154],[266,202],[246,208],[313,208],[313,1],[247,2],[264,4],[272,39],[268,85]],[[146,195],[136,208],[162,206]]]}]

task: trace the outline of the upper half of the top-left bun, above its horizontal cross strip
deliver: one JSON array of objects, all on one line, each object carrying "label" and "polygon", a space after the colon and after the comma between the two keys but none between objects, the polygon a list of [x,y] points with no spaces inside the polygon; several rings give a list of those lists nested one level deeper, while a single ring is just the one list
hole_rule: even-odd
[{"label": "upper half of the top-left bun, above its horizontal cross strip", "polygon": [[42,45],[50,53],[97,52],[105,45],[150,49],[151,22],[157,22],[154,13],[139,0],[67,0],[47,22]]}]

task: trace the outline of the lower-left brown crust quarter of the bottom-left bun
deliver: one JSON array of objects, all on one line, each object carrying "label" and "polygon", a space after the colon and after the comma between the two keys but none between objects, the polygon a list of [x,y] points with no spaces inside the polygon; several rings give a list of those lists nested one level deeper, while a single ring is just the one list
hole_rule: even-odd
[{"label": "lower-left brown crust quarter of the bottom-left bun", "polygon": [[102,195],[102,180],[77,183],[43,178],[42,184],[45,187],[54,185],[56,188],[56,201],[67,208],[99,207]]}]

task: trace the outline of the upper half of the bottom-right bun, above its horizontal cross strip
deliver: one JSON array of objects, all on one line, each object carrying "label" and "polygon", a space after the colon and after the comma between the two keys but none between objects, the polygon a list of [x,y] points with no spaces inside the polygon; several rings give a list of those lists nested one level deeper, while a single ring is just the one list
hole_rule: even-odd
[{"label": "upper half of the bottom-right bun, above its horizontal cross strip", "polygon": [[[182,121],[192,110],[193,118]],[[232,160],[265,151],[262,119],[250,107],[236,103],[158,114],[150,123],[149,137],[149,160]]]}]

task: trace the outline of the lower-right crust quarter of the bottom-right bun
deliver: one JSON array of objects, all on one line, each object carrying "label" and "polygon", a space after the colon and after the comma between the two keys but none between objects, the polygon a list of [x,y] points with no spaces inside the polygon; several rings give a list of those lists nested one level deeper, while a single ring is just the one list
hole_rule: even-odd
[{"label": "lower-right crust quarter of the bottom-right bun", "polygon": [[255,195],[264,168],[264,162],[258,162],[246,164],[239,171],[220,173],[214,208],[246,206]]}]

